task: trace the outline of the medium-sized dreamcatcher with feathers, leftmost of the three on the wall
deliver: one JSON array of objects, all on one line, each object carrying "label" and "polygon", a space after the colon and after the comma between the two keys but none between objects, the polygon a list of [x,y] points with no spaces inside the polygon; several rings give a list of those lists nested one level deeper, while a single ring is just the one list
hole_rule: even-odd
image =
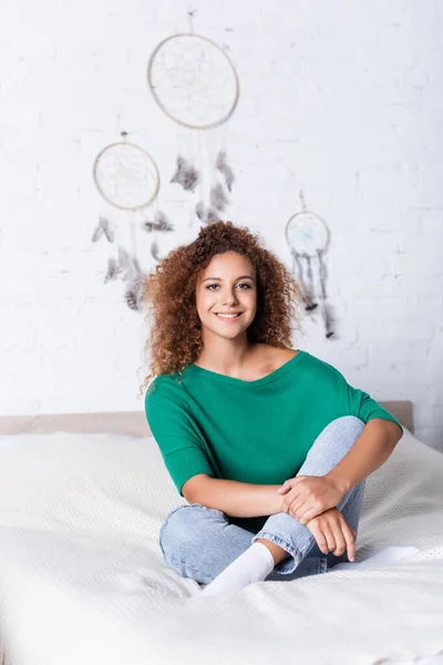
[{"label": "medium-sized dreamcatcher with feathers, leftmost of the three on the wall", "polygon": [[156,207],[153,219],[146,219],[146,208],[156,201],[158,193],[158,170],[146,151],[126,142],[126,132],[122,132],[122,142],[104,147],[94,161],[94,183],[104,207],[92,242],[104,236],[109,243],[114,243],[117,237],[117,255],[109,258],[104,282],[124,280],[127,306],[140,309],[144,274],[137,258],[136,227],[154,233],[151,253],[158,260],[155,233],[172,231],[172,225]]}]

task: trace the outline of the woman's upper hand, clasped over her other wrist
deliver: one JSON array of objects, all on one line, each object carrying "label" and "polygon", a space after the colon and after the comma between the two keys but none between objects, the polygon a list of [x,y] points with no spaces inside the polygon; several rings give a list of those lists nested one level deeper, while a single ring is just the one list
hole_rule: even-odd
[{"label": "woman's upper hand, clasped over her other wrist", "polygon": [[326,475],[296,475],[289,478],[277,492],[286,494],[282,512],[291,514],[300,524],[317,518],[326,510],[336,508],[343,491]]}]

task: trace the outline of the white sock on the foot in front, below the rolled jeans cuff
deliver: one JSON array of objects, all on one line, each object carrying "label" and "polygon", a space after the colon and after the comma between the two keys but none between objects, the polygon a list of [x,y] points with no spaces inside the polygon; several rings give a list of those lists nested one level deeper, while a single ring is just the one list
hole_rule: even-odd
[{"label": "white sock on the foot in front, below the rolled jeans cuff", "polygon": [[265,580],[274,571],[274,556],[262,543],[253,543],[230,563],[200,595],[236,595],[244,586]]}]

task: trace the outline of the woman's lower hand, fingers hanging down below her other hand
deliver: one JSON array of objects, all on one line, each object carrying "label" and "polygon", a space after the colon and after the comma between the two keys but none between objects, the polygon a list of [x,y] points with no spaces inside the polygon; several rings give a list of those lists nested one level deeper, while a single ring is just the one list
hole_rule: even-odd
[{"label": "woman's lower hand, fingers hanging down below her other hand", "polygon": [[349,561],[356,559],[356,535],[337,508],[326,510],[306,524],[317,541],[320,552],[340,556],[348,550]]}]

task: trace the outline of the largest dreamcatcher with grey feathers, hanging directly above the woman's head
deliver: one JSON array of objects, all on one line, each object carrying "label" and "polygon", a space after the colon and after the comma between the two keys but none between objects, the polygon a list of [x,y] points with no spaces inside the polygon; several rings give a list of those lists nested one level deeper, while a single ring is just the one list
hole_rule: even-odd
[{"label": "largest dreamcatcher with grey feathers, hanging directly above the woman's head", "polygon": [[147,81],[162,111],[178,124],[178,155],[172,183],[194,194],[202,223],[220,218],[229,203],[234,172],[226,156],[226,121],[238,100],[238,78],[225,50],[193,32],[164,39],[153,51]]}]

